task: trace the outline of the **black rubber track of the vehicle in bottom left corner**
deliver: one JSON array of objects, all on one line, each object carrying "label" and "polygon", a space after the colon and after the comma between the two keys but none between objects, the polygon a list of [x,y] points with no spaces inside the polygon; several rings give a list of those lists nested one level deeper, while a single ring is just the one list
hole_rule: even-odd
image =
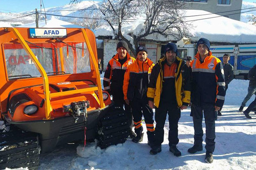
[{"label": "black rubber track of the vehicle in bottom left corner", "polygon": [[0,139],[0,169],[38,169],[39,147],[36,133],[24,132],[11,126],[9,132],[0,133]]}]

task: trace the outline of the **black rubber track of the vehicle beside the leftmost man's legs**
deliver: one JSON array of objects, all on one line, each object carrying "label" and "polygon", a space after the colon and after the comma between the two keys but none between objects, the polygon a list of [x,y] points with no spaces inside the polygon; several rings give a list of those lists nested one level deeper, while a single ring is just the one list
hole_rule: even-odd
[{"label": "black rubber track of the vehicle beside the leftmost man's legs", "polygon": [[109,108],[98,124],[98,146],[101,149],[123,143],[129,135],[129,125],[123,108]]}]

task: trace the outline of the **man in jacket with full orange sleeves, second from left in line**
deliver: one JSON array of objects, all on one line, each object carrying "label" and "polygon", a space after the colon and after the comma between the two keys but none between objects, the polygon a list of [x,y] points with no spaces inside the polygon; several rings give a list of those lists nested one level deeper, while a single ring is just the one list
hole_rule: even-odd
[{"label": "man in jacket with full orange sleeves, second from left in line", "polygon": [[153,110],[148,105],[147,87],[149,84],[149,76],[154,63],[147,58],[147,48],[138,47],[136,50],[135,63],[128,66],[123,80],[124,100],[127,105],[133,109],[133,121],[135,125],[136,137],[133,142],[138,143],[143,140],[142,133],[142,112],[147,126],[147,137],[149,144],[154,139],[154,120]]}]

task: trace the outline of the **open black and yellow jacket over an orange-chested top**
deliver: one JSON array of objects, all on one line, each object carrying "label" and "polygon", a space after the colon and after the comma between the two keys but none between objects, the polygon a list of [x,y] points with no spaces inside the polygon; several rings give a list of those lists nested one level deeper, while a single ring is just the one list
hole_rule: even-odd
[{"label": "open black and yellow jacket over an orange-chested top", "polygon": [[[182,105],[188,106],[190,103],[191,79],[190,70],[185,61],[176,57],[175,61],[175,97],[178,107]],[[149,87],[147,88],[147,97],[149,100],[154,101],[155,107],[159,107],[161,94],[163,91],[164,81],[164,65],[166,64],[166,57],[161,58],[152,69],[150,75]],[[167,78],[167,77],[166,77]],[[170,99],[172,96],[170,96]]]}]

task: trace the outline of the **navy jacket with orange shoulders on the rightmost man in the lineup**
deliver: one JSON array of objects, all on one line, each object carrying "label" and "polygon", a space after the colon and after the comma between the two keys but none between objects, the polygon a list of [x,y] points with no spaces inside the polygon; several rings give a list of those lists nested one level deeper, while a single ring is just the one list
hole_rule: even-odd
[{"label": "navy jacket with orange shoulders on the rightmost man in the lineup", "polygon": [[225,98],[225,79],[223,65],[220,59],[212,56],[200,62],[199,53],[190,63],[192,69],[192,105],[216,105],[222,107]]}]

